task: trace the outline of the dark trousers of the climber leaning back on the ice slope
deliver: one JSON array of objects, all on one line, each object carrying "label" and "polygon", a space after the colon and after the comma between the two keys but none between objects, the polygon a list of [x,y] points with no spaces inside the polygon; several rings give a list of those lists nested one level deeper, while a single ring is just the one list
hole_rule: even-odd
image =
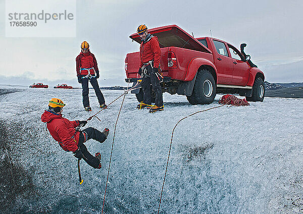
[{"label": "dark trousers of the climber leaning back on the ice slope", "polygon": [[96,141],[99,141],[100,143],[103,143],[106,140],[106,136],[104,133],[92,127],[86,128],[80,132],[78,147],[80,147],[85,157],[83,159],[89,166],[98,169],[100,164],[99,159],[91,155],[89,151],[87,151],[86,146],[84,145],[84,143],[89,139],[94,139]]}]

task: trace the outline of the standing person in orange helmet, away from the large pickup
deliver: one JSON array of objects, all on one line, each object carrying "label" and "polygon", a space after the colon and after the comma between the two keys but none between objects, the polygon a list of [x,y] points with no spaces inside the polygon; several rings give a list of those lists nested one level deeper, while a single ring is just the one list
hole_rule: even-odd
[{"label": "standing person in orange helmet, away from the large pickup", "polygon": [[88,81],[90,81],[90,84],[96,93],[100,109],[106,109],[107,105],[105,104],[104,96],[100,91],[97,81],[99,78],[97,61],[94,55],[89,51],[89,44],[87,41],[81,43],[81,52],[76,58],[76,72],[78,82],[82,84],[82,97],[85,111],[91,111],[88,98]]}]

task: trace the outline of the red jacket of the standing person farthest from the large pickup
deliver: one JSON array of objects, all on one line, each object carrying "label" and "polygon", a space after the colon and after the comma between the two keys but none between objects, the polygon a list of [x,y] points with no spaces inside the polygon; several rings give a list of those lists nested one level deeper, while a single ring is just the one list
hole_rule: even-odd
[{"label": "red jacket of the standing person farthest from the large pickup", "polygon": [[[94,55],[88,50],[87,53],[80,52],[79,55],[76,57],[76,72],[77,76],[87,75],[88,70],[80,70],[81,68],[94,68],[94,71],[98,74],[98,65],[97,60]],[[94,75],[93,69],[89,70],[91,75]]]}]

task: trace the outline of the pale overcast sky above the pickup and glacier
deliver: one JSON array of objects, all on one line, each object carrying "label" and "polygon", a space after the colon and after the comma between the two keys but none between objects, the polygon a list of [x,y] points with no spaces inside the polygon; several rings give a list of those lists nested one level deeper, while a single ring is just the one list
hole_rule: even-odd
[{"label": "pale overcast sky above the pickup and glacier", "polygon": [[[20,4],[27,4],[21,1]],[[5,0],[0,0],[5,14]],[[225,40],[245,52],[273,83],[303,82],[303,1],[77,1],[76,37],[7,38],[1,19],[0,84],[77,83],[75,58],[88,41],[100,86],[125,85],[126,53],[138,51],[129,35],[176,24],[195,37]]]}]

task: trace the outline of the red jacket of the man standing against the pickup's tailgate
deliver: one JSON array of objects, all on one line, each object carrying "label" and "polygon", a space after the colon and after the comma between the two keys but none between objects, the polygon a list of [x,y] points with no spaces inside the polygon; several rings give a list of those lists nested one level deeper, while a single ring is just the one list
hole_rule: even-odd
[{"label": "red jacket of the man standing against the pickup's tailgate", "polygon": [[140,45],[140,68],[143,63],[148,63],[154,60],[154,68],[158,68],[160,65],[161,50],[157,36],[152,36],[145,43],[142,41]]}]

